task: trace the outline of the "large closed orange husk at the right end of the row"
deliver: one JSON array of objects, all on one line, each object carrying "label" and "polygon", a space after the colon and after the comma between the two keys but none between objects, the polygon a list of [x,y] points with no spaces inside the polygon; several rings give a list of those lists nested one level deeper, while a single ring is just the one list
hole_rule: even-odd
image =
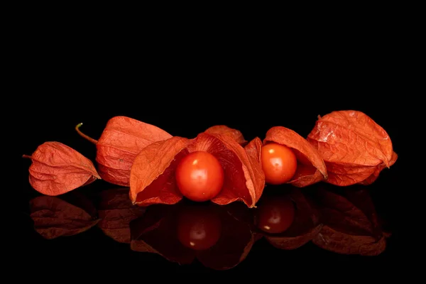
[{"label": "large closed orange husk at the right end of the row", "polygon": [[318,118],[307,136],[333,185],[371,184],[398,159],[388,133],[361,111],[333,111]]}]

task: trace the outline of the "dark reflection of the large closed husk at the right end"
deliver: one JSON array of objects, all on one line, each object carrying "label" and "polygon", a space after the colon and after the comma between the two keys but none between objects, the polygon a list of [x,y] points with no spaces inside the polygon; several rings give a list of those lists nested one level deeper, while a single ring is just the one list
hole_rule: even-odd
[{"label": "dark reflection of the large closed husk at the right end", "polygon": [[342,254],[376,256],[386,249],[389,234],[381,230],[376,210],[366,190],[316,192],[324,227],[312,242]]}]

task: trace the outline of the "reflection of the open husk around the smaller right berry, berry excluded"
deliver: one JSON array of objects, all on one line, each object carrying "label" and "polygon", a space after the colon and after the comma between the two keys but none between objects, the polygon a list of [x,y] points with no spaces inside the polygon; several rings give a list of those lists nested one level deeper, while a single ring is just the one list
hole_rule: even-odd
[{"label": "reflection of the open husk around the smaller right berry, berry excluded", "polygon": [[290,199],[295,204],[295,219],[291,226],[280,234],[258,231],[260,236],[265,236],[265,239],[278,249],[297,249],[311,241],[322,229],[322,224],[318,222],[317,210],[299,189],[290,192]]}]

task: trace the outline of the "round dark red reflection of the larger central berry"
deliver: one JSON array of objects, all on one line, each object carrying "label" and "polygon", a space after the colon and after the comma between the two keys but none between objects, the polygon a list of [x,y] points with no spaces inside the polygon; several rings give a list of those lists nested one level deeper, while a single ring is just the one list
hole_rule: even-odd
[{"label": "round dark red reflection of the larger central berry", "polygon": [[210,206],[186,206],[178,214],[178,239],[190,249],[209,249],[220,238],[222,222]]}]

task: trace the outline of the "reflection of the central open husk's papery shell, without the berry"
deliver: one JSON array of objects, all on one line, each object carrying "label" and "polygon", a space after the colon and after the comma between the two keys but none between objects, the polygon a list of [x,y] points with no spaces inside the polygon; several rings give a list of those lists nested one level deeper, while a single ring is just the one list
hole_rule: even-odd
[{"label": "reflection of the central open husk's papery shell, without the berry", "polygon": [[[181,204],[171,206],[153,205],[148,207],[143,217],[131,222],[133,251],[158,253],[160,256],[176,263],[189,264],[198,258],[204,266],[215,270],[224,270],[236,266],[248,255],[254,243],[250,224],[240,222],[231,212],[244,216],[239,209],[249,209],[234,206],[218,206],[215,204]],[[168,207],[168,208],[165,208]],[[217,214],[221,220],[221,236],[216,244],[209,249],[194,251],[182,244],[177,238],[177,216],[182,210],[190,207],[204,207],[212,214]],[[229,207],[229,208],[228,208]],[[229,210],[228,210],[229,209]]]}]

